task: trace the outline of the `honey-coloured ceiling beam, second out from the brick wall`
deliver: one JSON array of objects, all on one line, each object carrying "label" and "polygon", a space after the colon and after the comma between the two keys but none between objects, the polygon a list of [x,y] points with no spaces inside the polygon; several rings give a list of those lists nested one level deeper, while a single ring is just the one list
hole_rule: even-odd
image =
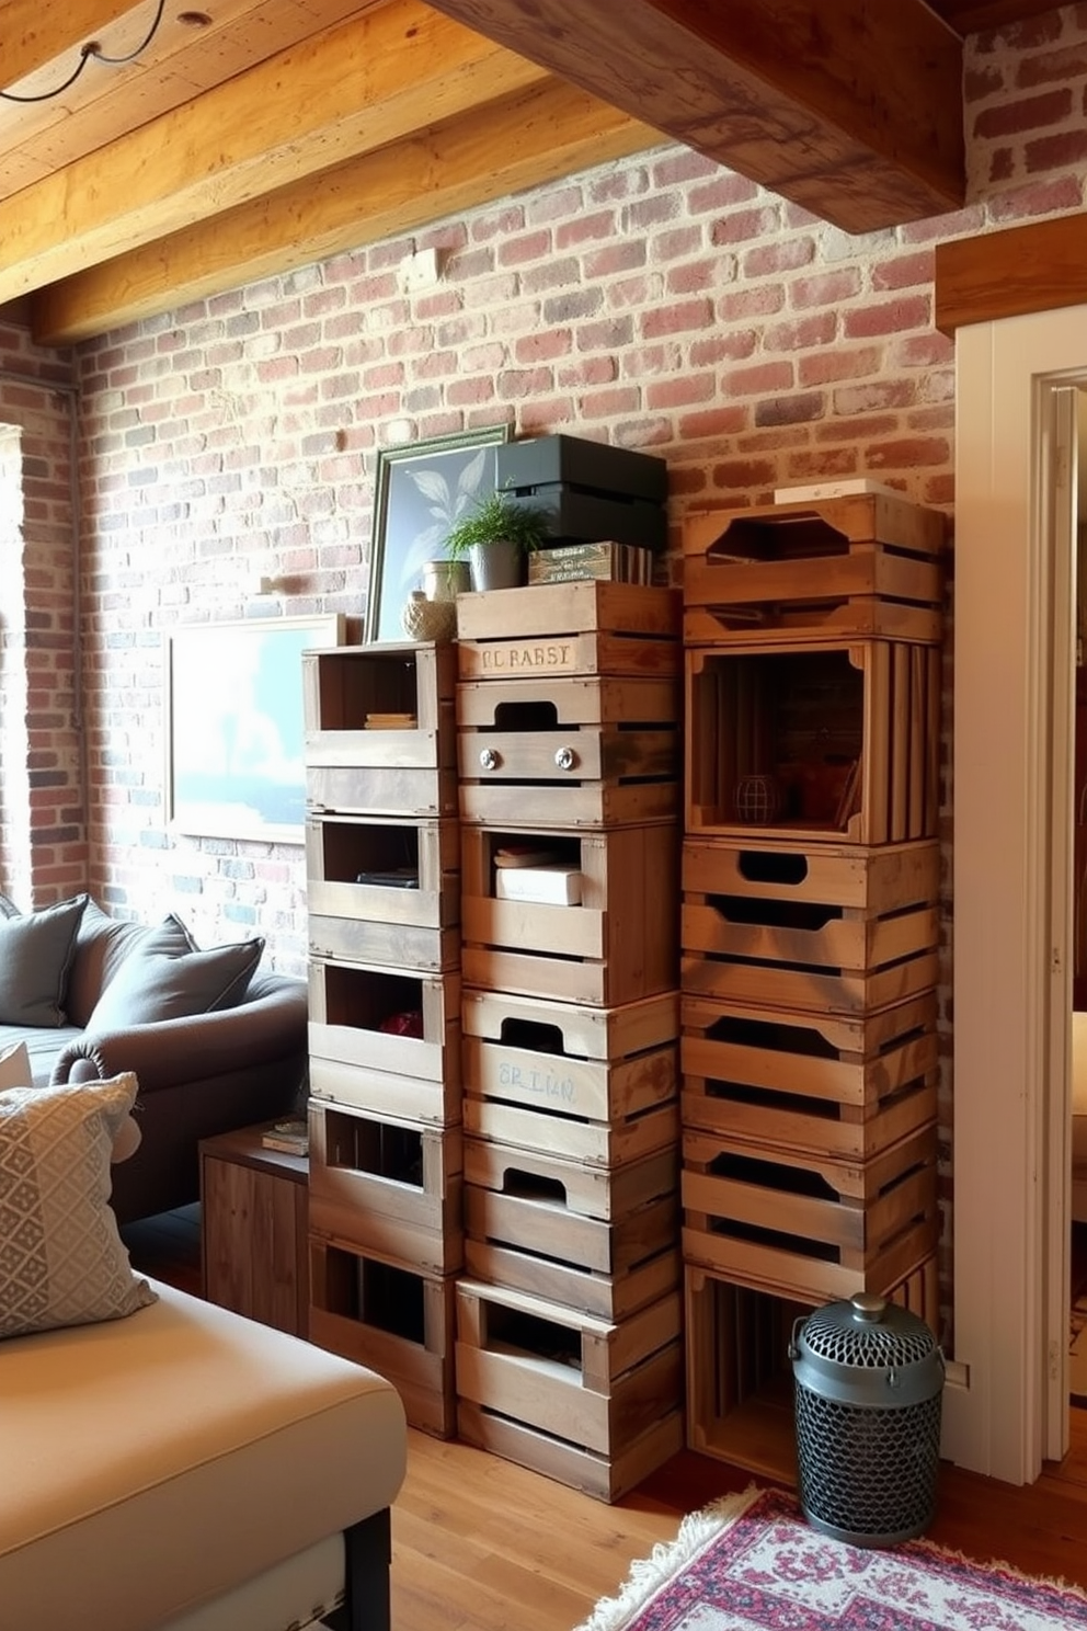
[{"label": "honey-coloured ceiling beam, second out from the brick wall", "polygon": [[13,194],[0,303],[544,78],[389,0]]}]

